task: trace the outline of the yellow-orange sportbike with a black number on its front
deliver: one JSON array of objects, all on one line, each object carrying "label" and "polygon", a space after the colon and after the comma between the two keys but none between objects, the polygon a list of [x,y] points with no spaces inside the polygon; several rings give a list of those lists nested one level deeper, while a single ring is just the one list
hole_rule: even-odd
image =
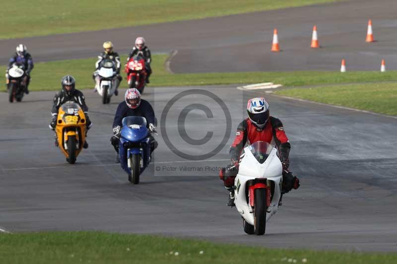
[{"label": "yellow-orange sportbike with a black number on its front", "polygon": [[56,134],[59,148],[70,164],[83,148],[86,135],[86,120],[81,107],[74,102],[66,102],[58,110]]}]

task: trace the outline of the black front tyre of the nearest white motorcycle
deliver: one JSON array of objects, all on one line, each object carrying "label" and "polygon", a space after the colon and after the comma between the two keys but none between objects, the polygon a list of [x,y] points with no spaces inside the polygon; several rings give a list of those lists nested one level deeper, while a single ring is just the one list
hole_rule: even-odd
[{"label": "black front tyre of the nearest white motorcycle", "polygon": [[266,229],[266,189],[255,189],[254,194],[254,233],[265,234]]}]

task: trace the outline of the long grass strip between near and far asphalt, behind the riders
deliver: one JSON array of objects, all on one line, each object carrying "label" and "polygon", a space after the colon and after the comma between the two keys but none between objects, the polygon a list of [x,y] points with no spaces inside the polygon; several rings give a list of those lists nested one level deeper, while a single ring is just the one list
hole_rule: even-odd
[{"label": "long grass strip between near and far asphalt, behind the riders", "polygon": [[[170,74],[165,70],[164,62],[166,54],[153,55],[150,86],[195,86],[195,85],[227,85],[227,84],[252,84],[260,82],[274,82],[286,87],[299,87],[309,85],[343,84],[343,83],[364,83],[383,82],[397,80],[397,71],[387,72],[345,72],[338,71],[314,72],[240,72],[240,73],[187,73]],[[78,89],[93,88],[92,72],[97,58],[84,58],[72,60],[60,60],[40,62],[35,64],[29,86],[31,91],[58,90],[61,86],[61,78],[71,74],[76,78]],[[126,56],[122,56],[122,61]],[[0,67],[0,72],[5,67]],[[126,87],[126,75],[122,73],[124,80],[121,87]],[[0,75],[0,83],[5,83],[4,75]],[[3,86],[5,91],[5,86]]]}]

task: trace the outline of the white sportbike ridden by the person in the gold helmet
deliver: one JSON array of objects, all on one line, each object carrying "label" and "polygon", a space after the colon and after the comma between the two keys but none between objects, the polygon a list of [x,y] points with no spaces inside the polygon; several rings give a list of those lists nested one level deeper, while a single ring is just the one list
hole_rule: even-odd
[{"label": "white sportbike ridden by the person in the gold helmet", "polygon": [[102,97],[102,104],[109,104],[110,98],[120,84],[117,78],[117,68],[111,59],[103,59],[97,64],[95,89]]}]

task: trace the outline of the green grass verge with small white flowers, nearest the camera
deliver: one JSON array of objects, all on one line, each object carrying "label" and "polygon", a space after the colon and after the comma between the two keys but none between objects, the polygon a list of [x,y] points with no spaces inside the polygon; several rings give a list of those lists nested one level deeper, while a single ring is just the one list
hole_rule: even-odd
[{"label": "green grass verge with small white flowers, nearest the camera", "polygon": [[265,249],[103,232],[0,233],[0,263],[12,264],[265,264],[288,259],[291,263],[306,259],[308,264],[388,264],[396,263],[396,258],[396,254]]}]

